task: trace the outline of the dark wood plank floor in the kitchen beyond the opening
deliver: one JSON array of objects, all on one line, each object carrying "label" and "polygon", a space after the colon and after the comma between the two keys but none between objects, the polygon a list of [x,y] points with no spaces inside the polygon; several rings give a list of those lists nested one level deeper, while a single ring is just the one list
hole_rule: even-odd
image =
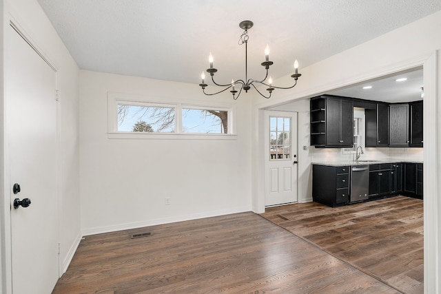
[{"label": "dark wood plank floor in the kitchen beyond the opening", "polygon": [[331,208],[315,202],[262,214],[402,293],[423,293],[423,202],[398,196]]}]

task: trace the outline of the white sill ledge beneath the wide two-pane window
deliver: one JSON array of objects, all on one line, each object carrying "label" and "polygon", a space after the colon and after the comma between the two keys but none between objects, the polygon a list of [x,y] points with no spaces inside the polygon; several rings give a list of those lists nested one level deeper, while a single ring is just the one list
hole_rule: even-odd
[{"label": "white sill ledge beneath the wide two-pane window", "polygon": [[110,139],[150,139],[150,140],[236,140],[234,134],[170,134],[170,133],[107,133]]}]

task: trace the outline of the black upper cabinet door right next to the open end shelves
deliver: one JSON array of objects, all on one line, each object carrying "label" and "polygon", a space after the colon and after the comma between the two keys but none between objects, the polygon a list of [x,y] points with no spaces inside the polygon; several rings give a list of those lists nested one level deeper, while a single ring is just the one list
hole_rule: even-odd
[{"label": "black upper cabinet door right next to the open end shelves", "polygon": [[326,145],[340,145],[340,99],[326,101]]}]

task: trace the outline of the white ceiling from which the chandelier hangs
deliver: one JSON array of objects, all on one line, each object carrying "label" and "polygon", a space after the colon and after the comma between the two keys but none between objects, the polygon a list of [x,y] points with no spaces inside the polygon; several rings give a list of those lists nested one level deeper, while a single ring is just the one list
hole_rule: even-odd
[{"label": "white ceiling from which the chandelier hangs", "polygon": [[[440,0],[38,0],[83,70],[200,83],[214,56],[220,83],[273,78],[441,10]],[[301,82],[301,78],[299,83]]]}]

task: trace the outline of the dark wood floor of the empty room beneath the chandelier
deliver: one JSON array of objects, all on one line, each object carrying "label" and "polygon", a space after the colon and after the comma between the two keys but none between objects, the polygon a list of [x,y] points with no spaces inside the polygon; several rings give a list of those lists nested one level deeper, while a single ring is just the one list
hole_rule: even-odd
[{"label": "dark wood floor of the empty room beneath the chandelier", "polygon": [[399,291],[249,212],[86,236],[53,293]]}]

